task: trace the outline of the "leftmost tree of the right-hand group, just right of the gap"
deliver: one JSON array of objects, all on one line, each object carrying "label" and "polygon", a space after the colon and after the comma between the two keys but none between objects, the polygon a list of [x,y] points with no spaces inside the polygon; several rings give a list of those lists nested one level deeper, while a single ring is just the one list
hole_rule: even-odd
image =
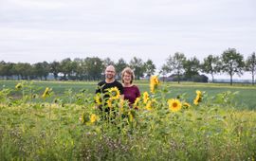
[{"label": "leftmost tree of the right-hand group, just right of the gap", "polygon": [[180,75],[184,72],[184,63],[186,62],[186,57],[183,53],[176,52],[174,56],[171,55],[167,59],[166,66],[168,67],[168,72],[174,72],[178,77],[178,83],[180,81]]}]

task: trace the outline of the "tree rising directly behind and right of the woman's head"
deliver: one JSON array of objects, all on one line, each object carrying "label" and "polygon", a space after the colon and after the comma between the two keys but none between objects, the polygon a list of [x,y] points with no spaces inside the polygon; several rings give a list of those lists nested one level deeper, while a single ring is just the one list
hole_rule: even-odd
[{"label": "tree rising directly behind and right of the woman's head", "polygon": [[135,77],[139,80],[140,77],[143,77],[144,66],[143,61],[140,58],[134,57],[129,63],[131,69],[134,70]]}]

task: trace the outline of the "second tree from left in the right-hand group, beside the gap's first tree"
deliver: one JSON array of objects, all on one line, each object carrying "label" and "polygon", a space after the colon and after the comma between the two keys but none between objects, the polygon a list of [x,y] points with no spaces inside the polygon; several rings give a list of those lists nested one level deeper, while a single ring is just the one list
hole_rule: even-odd
[{"label": "second tree from left in the right-hand group, beside the gap's first tree", "polygon": [[197,58],[193,57],[184,63],[185,77],[187,80],[192,80],[193,76],[198,76],[200,69],[200,62]]}]

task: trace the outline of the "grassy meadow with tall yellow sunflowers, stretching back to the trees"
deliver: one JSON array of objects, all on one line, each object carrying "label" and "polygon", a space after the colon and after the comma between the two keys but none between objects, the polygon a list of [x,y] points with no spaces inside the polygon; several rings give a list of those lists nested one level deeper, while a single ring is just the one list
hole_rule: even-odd
[{"label": "grassy meadow with tall yellow sunflowers, stretching back to the trees", "polygon": [[160,83],[152,93],[137,81],[141,97],[129,108],[97,99],[94,81],[20,82],[0,80],[1,160],[256,158],[250,85]]}]

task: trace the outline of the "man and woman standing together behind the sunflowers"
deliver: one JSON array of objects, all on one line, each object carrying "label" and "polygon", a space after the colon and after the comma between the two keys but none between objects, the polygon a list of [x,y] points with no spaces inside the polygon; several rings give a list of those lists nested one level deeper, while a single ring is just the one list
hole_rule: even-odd
[{"label": "man and woman standing together behind the sunflowers", "polygon": [[133,84],[135,79],[134,72],[131,68],[126,67],[121,72],[122,84],[115,79],[116,69],[113,65],[109,65],[105,69],[105,80],[98,83],[96,94],[105,94],[108,89],[117,87],[119,89],[120,98],[124,98],[129,101],[129,106],[132,107],[136,98],[140,97],[139,89]]}]

